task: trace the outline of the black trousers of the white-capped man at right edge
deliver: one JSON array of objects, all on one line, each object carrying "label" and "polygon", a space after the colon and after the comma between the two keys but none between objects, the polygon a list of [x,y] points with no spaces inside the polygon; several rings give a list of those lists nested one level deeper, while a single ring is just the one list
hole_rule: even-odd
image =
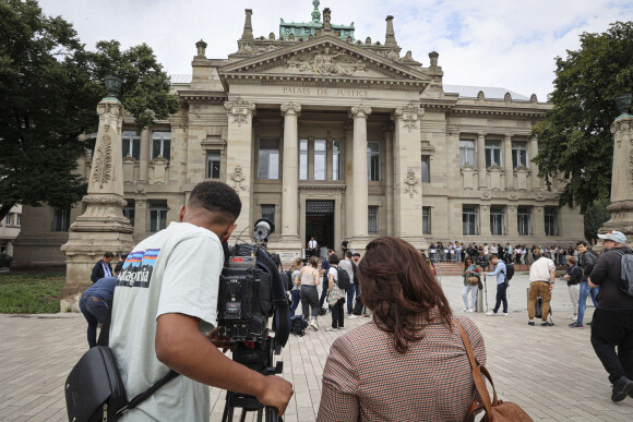
[{"label": "black trousers of the white-capped man at right edge", "polygon": [[611,384],[622,376],[633,379],[633,311],[598,308],[592,322],[592,346]]}]

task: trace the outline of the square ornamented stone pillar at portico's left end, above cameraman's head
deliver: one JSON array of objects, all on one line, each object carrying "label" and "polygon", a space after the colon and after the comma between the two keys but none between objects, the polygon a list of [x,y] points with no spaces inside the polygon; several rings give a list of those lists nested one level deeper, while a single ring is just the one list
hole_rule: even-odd
[{"label": "square ornamented stone pillar at portico's left end, above cameraman's head", "polygon": [[[253,154],[253,116],[255,105],[244,101],[241,97],[226,101],[224,107],[228,113],[228,133],[226,141],[227,183],[235,189],[242,202],[242,210],[236,224],[237,232],[249,227],[242,239],[252,233],[255,221],[252,220],[251,197],[253,174],[251,169]],[[250,236],[249,236],[250,238]],[[249,239],[246,238],[246,239]]]}]

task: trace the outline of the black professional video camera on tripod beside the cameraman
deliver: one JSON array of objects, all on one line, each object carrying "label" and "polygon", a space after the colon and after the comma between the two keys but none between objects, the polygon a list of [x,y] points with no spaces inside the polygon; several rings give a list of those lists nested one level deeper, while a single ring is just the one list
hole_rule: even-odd
[{"label": "black professional video camera on tripod beside the cameraman", "polygon": [[[230,339],[232,359],[264,375],[282,373],[283,362],[274,364],[273,355],[282,352],[290,334],[287,276],[279,272],[278,255],[266,250],[274,230],[270,220],[260,219],[253,230],[258,244],[236,242],[227,249],[217,302],[218,334]],[[267,327],[271,316],[274,337]],[[242,415],[256,411],[261,421],[261,402],[252,396],[227,391],[223,422],[232,420],[237,407],[242,408]],[[266,421],[276,420],[276,409],[266,408]]]}]

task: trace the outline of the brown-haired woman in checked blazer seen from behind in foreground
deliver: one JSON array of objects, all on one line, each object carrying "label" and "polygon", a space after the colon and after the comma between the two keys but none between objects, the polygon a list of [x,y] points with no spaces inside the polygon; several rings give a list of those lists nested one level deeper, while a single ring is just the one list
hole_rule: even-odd
[{"label": "brown-haired woman in checked blazer seen from behind in foreground", "polygon": [[[419,252],[379,238],[358,266],[373,319],[334,341],[323,371],[318,421],[458,421],[475,398],[470,363],[442,288]],[[477,361],[483,338],[464,327]]]}]

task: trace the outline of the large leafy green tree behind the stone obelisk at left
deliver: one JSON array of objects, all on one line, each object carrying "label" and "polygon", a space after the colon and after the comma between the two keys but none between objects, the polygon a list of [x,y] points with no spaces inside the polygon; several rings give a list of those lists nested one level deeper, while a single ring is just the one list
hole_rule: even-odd
[{"label": "large leafy green tree behind the stone obelisk at left", "polygon": [[103,76],[120,74],[119,96],[143,129],[179,108],[150,47],[86,51],[72,25],[35,0],[0,1],[0,219],[17,203],[69,207],[86,183],[75,170],[98,124]]}]

